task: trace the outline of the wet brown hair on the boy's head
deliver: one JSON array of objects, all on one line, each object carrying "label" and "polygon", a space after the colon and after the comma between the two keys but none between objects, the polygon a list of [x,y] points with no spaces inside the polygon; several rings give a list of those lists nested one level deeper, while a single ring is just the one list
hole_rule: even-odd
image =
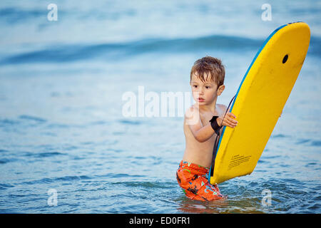
[{"label": "wet brown hair on the boy's head", "polygon": [[210,81],[215,81],[219,87],[224,84],[225,68],[220,59],[205,56],[195,61],[192,69],[190,70],[190,82],[192,81],[193,75],[198,76],[200,81],[203,82],[205,82],[205,76],[210,76]]}]

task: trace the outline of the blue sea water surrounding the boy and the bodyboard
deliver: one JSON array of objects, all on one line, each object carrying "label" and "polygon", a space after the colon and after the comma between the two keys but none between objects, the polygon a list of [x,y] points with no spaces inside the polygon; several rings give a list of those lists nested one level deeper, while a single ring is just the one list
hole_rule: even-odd
[{"label": "blue sea water surrounding the boy and the bodyboard", "polygon": [[[269,1],[270,20],[265,1],[51,3],[0,3],[0,212],[321,212],[320,2]],[[187,199],[183,117],[125,116],[123,95],[188,93],[208,55],[225,65],[228,105],[265,38],[293,21],[309,24],[310,48],[257,167],[219,185],[228,199]]]}]

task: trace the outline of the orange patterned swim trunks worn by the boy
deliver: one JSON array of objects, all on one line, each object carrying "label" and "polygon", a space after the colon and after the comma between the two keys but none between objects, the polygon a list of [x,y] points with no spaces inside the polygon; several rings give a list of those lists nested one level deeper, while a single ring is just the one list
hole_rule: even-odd
[{"label": "orange patterned swim trunks worn by the boy", "polygon": [[176,178],[186,197],[202,201],[223,198],[218,185],[210,185],[208,182],[209,171],[209,168],[191,162],[180,162]]}]

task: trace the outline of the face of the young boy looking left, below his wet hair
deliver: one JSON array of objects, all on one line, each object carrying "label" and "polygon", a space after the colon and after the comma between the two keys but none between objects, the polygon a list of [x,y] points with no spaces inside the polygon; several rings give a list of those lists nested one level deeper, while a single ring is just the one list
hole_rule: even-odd
[{"label": "face of the young boy looking left, below his wet hair", "polygon": [[225,86],[222,85],[218,88],[215,81],[211,81],[208,75],[205,75],[204,78],[205,82],[194,74],[190,86],[192,87],[193,98],[199,105],[210,105],[223,92]]}]

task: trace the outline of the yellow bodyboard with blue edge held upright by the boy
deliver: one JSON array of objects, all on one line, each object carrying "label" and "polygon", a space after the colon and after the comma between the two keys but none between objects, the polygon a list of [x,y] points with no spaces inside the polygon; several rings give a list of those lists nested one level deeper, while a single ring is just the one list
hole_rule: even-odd
[{"label": "yellow bodyboard with blue edge held upright by the boy", "polygon": [[253,172],[282,113],[310,43],[303,22],[277,28],[265,40],[240,83],[230,112],[235,128],[223,128],[209,181],[212,185]]}]

